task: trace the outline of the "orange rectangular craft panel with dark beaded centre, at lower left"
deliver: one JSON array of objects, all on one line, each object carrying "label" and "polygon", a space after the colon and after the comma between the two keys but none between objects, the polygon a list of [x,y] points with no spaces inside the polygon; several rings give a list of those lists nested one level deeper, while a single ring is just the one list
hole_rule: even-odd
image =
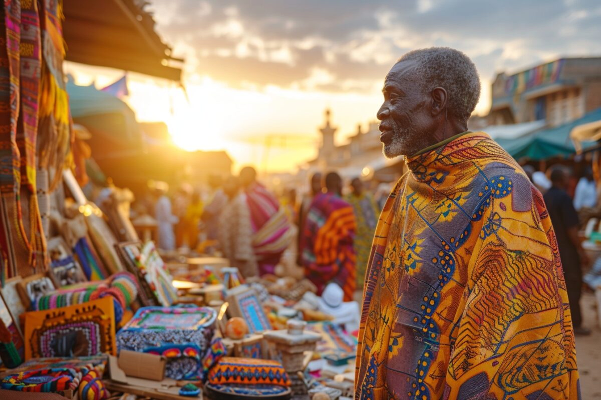
[{"label": "orange rectangular craft panel with dark beaded centre, at lower left", "polygon": [[115,354],[115,312],[111,297],[25,313],[25,359]]}]

